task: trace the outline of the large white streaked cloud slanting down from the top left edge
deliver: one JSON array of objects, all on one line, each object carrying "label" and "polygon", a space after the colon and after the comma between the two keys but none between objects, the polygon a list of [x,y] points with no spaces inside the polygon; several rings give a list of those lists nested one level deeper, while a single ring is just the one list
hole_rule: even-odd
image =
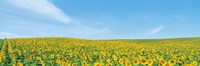
[{"label": "large white streaked cloud slanting down from the top left edge", "polygon": [[33,11],[63,23],[72,21],[69,16],[49,0],[6,0],[6,2],[17,8]]}]

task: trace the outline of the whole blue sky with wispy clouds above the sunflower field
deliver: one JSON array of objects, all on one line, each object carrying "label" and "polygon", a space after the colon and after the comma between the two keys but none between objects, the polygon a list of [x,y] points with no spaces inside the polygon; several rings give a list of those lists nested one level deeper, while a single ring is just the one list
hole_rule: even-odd
[{"label": "whole blue sky with wispy clouds above the sunflower field", "polygon": [[0,37],[199,37],[199,0],[1,0]]}]

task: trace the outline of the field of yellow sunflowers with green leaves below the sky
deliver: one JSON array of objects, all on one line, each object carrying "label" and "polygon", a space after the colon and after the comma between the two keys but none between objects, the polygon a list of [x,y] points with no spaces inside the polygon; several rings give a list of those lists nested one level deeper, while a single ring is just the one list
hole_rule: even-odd
[{"label": "field of yellow sunflowers with green leaves below the sky", "polygon": [[200,66],[200,38],[4,39],[0,66]]}]

